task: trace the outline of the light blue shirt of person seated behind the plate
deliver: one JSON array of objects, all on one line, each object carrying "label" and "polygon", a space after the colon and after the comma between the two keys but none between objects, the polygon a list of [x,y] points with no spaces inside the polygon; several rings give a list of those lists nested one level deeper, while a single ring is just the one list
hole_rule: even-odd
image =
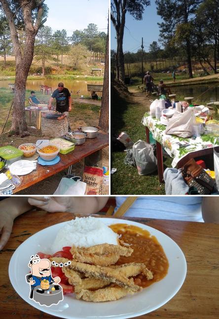
[{"label": "light blue shirt of person seated behind the plate", "polygon": [[[127,197],[115,198],[116,211]],[[204,222],[201,202],[202,196],[139,196],[124,216]]]}]

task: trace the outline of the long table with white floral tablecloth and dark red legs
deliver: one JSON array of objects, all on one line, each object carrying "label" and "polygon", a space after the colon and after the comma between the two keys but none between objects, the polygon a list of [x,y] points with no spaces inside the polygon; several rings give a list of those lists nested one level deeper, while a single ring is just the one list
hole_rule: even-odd
[{"label": "long table with white floral tablecloth and dark red legs", "polygon": [[[201,137],[192,139],[165,134],[166,126],[161,124],[156,118],[152,118],[146,112],[142,119],[142,124],[146,127],[146,142],[150,142],[149,133],[156,140],[157,146],[157,170],[159,182],[163,182],[163,151],[173,158],[172,167],[181,168],[191,158],[213,154],[213,150],[219,151],[219,140],[211,134],[203,134]],[[179,142],[186,141],[189,146],[181,147]]]}]

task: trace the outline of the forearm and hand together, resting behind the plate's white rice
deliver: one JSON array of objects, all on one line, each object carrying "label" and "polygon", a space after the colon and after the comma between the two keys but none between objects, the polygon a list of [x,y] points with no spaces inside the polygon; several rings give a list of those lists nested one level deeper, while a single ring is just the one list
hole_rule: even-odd
[{"label": "forearm and hand together, resting behind the plate's white rice", "polygon": [[106,205],[108,199],[108,196],[31,196],[28,202],[50,213],[69,212],[89,215],[98,213]]}]

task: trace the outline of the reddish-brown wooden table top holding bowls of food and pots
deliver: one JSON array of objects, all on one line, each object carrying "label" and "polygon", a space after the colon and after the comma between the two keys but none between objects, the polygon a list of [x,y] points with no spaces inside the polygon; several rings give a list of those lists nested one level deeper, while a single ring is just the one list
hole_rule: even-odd
[{"label": "reddish-brown wooden table top holding bowls of food and pots", "polygon": [[45,180],[47,177],[55,175],[71,165],[79,162],[83,158],[98,157],[98,153],[102,148],[109,145],[109,135],[99,131],[96,138],[86,138],[86,141],[82,145],[75,145],[75,149],[66,154],[58,154],[61,158],[60,162],[55,165],[42,166],[37,164],[37,170],[32,173],[23,176],[23,181],[20,186],[17,186],[13,193],[17,193],[22,189],[30,187],[37,182]]}]

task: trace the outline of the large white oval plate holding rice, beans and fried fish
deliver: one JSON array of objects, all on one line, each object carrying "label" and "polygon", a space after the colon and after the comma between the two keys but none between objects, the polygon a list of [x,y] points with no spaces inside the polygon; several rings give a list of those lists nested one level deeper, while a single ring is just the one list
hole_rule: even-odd
[{"label": "large white oval plate holding rice, beans and fried fish", "polygon": [[[51,307],[40,306],[29,299],[30,286],[26,282],[26,274],[30,268],[28,263],[31,255],[37,252],[48,252],[48,247],[55,240],[58,230],[65,223],[45,228],[25,240],[14,252],[9,264],[10,281],[16,292],[33,307],[47,314],[67,319],[125,319],[147,314],[167,303],[181,288],[186,275],[186,261],[180,247],[167,235],[154,228],[131,221],[101,218],[106,225],[123,223],[146,229],[156,236],[162,245],[169,261],[167,275],[153,283],[143,291],[128,295],[117,301],[86,302],[76,300],[74,294],[64,295],[63,301]],[[46,240],[46,245],[45,245]]]}]

